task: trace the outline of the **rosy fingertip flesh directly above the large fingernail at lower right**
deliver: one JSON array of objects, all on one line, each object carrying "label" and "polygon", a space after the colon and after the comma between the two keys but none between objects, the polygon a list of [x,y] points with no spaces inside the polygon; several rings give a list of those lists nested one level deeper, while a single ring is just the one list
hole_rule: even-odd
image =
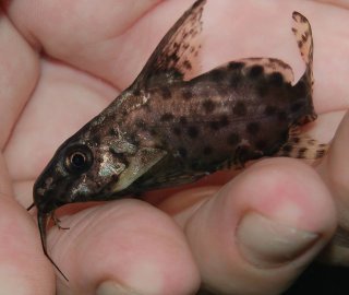
[{"label": "rosy fingertip flesh directly above the large fingernail at lower right", "polygon": [[330,236],[336,208],[315,170],[297,160],[268,158],[256,163],[234,184],[240,211],[257,211],[296,228]]}]

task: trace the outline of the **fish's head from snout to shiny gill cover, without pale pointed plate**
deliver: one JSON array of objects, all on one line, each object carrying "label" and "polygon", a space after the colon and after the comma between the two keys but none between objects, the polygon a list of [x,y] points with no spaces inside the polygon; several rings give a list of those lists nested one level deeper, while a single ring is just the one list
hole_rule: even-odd
[{"label": "fish's head from snout to shiny gill cover, without pale pointed plate", "polygon": [[104,145],[69,141],[62,144],[37,178],[33,194],[38,211],[49,213],[72,202],[89,201],[106,193],[125,168],[122,155]]}]

